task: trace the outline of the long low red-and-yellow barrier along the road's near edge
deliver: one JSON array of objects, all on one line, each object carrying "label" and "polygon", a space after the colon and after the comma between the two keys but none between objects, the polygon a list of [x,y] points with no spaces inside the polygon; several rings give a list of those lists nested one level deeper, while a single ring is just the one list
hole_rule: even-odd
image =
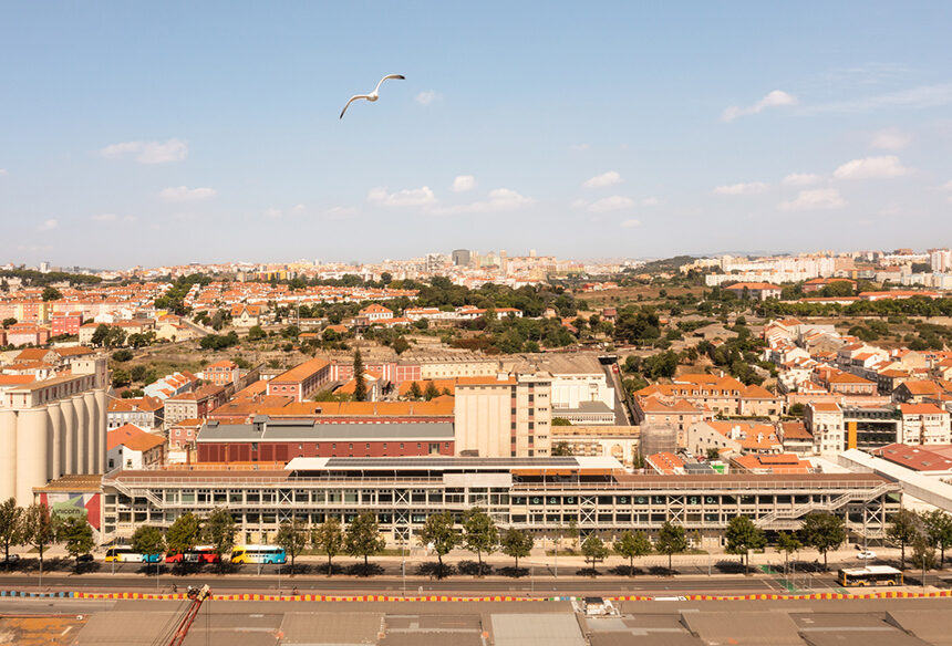
[{"label": "long low red-and-yellow barrier along the road's near edge", "polygon": [[[658,598],[648,595],[609,596],[609,601],[822,601],[822,600],[876,600],[876,598],[939,598],[952,596],[952,590],[933,592],[882,591],[865,594],[845,594],[838,592],[819,592],[811,594],[744,594],[744,595],[712,595],[687,594],[682,596],[665,596]],[[0,590],[0,597],[19,598],[81,598],[97,601],[183,601],[188,598],[185,593],[161,594],[145,592],[30,592],[24,590]],[[322,595],[322,594],[215,594],[216,601],[280,601],[280,602],[571,602],[582,597],[577,596],[385,596],[385,595]]]}]

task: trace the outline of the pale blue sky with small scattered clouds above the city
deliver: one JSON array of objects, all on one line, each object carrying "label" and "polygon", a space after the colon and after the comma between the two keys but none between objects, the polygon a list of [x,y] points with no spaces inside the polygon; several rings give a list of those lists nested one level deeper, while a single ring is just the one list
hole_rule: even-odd
[{"label": "pale blue sky with small scattered clouds above the city", "polygon": [[950,246],[950,24],[946,1],[0,0],[0,264]]}]

